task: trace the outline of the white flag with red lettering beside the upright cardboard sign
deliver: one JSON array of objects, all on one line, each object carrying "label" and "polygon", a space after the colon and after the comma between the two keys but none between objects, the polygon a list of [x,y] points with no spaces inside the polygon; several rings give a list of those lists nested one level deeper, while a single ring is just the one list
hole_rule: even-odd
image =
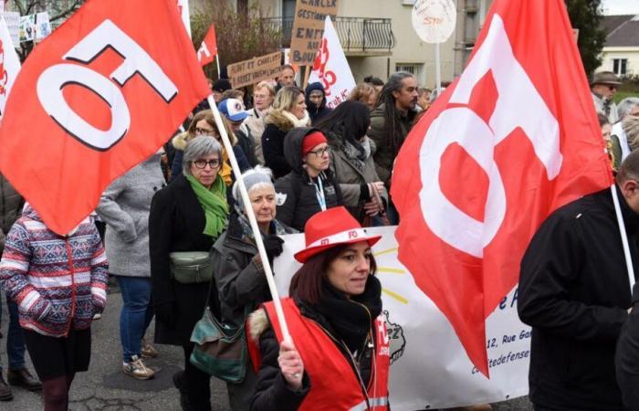
[{"label": "white flag with red lettering beside the upright cardboard sign", "polygon": [[330,109],[348,100],[351,90],[355,87],[351,67],[344,56],[340,37],[337,36],[330,16],[326,16],[324,37],[321,39],[318,55],[309,76],[309,84],[316,82],[324,86],[326,106]]}]

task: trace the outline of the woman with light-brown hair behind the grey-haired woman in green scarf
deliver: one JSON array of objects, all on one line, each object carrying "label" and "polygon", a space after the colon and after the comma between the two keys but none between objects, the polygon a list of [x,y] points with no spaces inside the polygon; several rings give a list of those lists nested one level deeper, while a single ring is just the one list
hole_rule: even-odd
[{"label": "woman with light-brown hair behind the grey-haired woman in green scarf", "polygon": [[[240,166],[240,170],[246,171],[251,168],[251,165],[246,160],[246,155],[237,145],[237,138],[235,133],[231,130],[231,127],[223,118],[226,134],[228,134],[228,138],[231,139],[231,144],[233,145],[233,153],[236,154],[237,163]],[[183,162],[183,152],[184,147],[186,147],[186,143],[192,140],[194,137],[198,135],[210,135],[211,137],[215,137],[215,140],[222,145],[222,170],[220,174],[222,179],[224,180],[227,187],[230,187],[233,184],[233,173],[231,170],[231,163],[228,161],[228,155],[225,152],[224,145],[222,144],[222,137],[220,135],[220,131],[217,130],[217,125],[215,124],[215,120],[213,118],[213,113],[210,110],[200,111],[194,115],[193,121],[189,125],[189,128],[186,132],[182,132],[176,135],[173,138],[172,144],[175,149],[175,156],[173,157],[173,165],[171,166],[171,179],[173,180],[178,175],[182,174],[182,162]]]}]

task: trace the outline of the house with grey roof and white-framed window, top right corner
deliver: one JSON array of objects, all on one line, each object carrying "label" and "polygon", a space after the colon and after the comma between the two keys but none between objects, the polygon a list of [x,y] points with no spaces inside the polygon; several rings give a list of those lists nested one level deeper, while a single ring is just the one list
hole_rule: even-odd
[{"label": "house with grey roof and white-framed window, top right corner", "polygon": [[613,71],[620,77],[639,75],[639,15],[604,16],[602,27],[606,42],[597,71]]}]

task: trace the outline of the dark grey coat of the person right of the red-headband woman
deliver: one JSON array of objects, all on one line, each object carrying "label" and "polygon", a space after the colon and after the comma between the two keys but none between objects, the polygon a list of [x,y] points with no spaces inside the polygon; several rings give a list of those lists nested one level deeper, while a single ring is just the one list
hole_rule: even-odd
[{"label": "dark grey coat of the person right of the red-headband woman", "polygon": [[[368,187],[365,185],[375,181],[382,181],[377,175],[375,163],[372,160],[372,154],[375,153],[375,143],[368,137],[362,142],[368,155],[364,161],[363,169],[361,169],[347,154],[347,151],[352,149],[341,142],[340,137],[332,133],[327,134],[329,145],[332,148],[330,152],[330,170],[335,175],[335,180],[340,184],[344,205],[351,215],[361,223],[366,218],[364,204],[372,198]],[[385,188],[380,193],[380,196],[384,206],[387,206],[388,192]]]}]

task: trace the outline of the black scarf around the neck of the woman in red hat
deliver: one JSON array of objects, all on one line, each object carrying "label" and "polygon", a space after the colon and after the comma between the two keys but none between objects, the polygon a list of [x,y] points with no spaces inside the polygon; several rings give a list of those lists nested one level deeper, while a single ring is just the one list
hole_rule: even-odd
[{"label": "black scarf around the neck of the woman in red hat", "polygon": [[382,284],[370,276],[364,292],[349,300],[328,281],[322,281],[321,300],[313,308],[329,321],[351,353],[355,353],[366,341],[372,321],[382,312]]}]

